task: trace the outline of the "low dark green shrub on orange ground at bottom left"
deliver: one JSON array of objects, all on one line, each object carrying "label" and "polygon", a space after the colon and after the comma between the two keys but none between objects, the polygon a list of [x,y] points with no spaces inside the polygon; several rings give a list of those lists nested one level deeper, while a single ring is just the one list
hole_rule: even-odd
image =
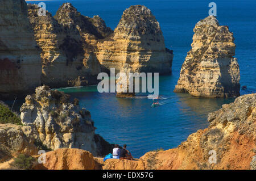
[{"label": "low dark green shrub on orange ground at bottom left", "polygon": [[17,167],[18,169],[30,170],[32,169],[35,160],[35,158],[29,155],[19,154],[18,157],[14,158],[12,166]]}]

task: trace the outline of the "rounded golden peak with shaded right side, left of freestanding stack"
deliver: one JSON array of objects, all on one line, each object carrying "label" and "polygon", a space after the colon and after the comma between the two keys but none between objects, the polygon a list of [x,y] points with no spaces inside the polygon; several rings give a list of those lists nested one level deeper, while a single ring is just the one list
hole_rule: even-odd
[{"label": "rounded golden peak with shaded right side, left of freestanding stack", "polygon": [[171,73],[172,50],[165,47],[155,16],[141,5],[123,12],[114,33],[97,44],[96,55],[103,66],[116,72],[129,64],[133,72]]}]

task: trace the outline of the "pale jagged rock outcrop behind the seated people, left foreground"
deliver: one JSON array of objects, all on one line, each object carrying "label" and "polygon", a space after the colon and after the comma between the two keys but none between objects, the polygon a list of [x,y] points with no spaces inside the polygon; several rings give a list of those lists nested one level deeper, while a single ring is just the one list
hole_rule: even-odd
[{"label": "pale jagged rock outcrop behind the seated people, left foreground", "polygon": [[79,148],[93,155],[104,155],[112,145],[95,134],[90,112],[80,108],[79,100],[48,86],[37,87],[35,94],[26,97],[20,107],[20,118],[30,126],[37,142],[48,149]]}]

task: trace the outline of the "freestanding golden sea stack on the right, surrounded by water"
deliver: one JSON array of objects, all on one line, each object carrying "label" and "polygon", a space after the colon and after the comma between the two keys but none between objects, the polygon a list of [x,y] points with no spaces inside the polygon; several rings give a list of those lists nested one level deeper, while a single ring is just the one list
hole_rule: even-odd
[{"label": "freestanding golden sea stack on the right, surrounded by water", "polygon": [[239,96],[240,70],[233,57],[233,33],[228,26],[220,26],[214,16],[200,20],[193,31],[192,48],[174,91],[209,98]]}]

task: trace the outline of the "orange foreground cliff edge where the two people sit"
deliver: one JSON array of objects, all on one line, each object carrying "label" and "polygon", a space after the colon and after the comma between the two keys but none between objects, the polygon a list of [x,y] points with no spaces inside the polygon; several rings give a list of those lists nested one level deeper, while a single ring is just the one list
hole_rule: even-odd
[{"label": "orange foreground cliff edge where the two people sit", "polygon": [[[47,162],[34,169],[256,169],[256,94],[222,105],[209,114],[208,121],[208,128],[192,133],[177,148],[150,151],[134,161],[103,162],[103,158],[93,157],[89,151],[57,149],[47,152]],[[216,163],[209,162],[209,153],[213,152]],[[7,163],[0,164],[0,168],[10,169]]]}]

